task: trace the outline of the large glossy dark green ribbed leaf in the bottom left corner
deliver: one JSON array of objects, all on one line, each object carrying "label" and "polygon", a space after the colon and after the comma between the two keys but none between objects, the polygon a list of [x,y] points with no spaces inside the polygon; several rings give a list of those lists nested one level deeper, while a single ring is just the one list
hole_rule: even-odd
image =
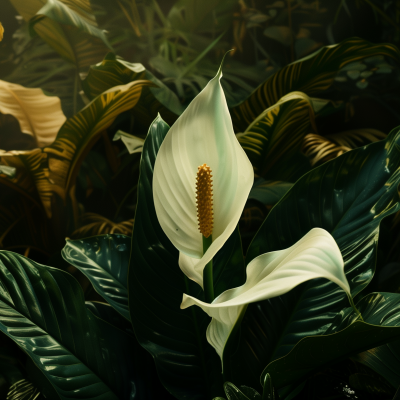
[{"label": "large glossy dark green ribbed leaf in the bottom left corner", "polygon": [[43,372],[60,399],[128,399],[132,336],[94,316],[68,273],[0,252],[0,330]]}]

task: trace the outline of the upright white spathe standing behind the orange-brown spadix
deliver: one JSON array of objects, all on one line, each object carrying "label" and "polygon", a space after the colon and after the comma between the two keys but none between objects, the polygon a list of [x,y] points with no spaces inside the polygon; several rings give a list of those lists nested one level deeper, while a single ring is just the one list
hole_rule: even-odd
[{"label": "upright white spathe standing behind the orange-brown spadix", "polygon": [[[158,221],[179,250],[179,266],[203,287],[203,269],[236,228],[253,167],[233,131],[221,68],[171,127],[157,154],[153,196]],[[213,242],[203,255],[196,208],[197,167],[213,175]]]}]

